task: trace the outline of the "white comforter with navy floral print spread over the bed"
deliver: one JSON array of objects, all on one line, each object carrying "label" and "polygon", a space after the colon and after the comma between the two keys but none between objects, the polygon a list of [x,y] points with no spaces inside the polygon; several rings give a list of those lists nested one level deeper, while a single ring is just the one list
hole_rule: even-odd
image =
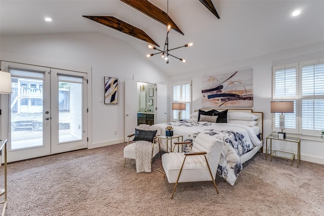
[{"label": "white comforter with navy floral print spread over the bed", "polygon": [[[204,133],[224,141],[217,175],[224,178],[230,185],[234,185],[241,169],[240,156],[247,153],[255,146],[261,145],[255,132],[247,125],[234,123],[211,123],[182,120],[171,123],[154,124],[165,128],[173,126],[174,134],[182,135],[183,141],[191,143],[197,134]],[[164,129],[165,131],[165,129]],[[161,150],[166,150],[165,143],[160,143]],[[190,146],[184,146],[183,150],[191,151]]]}]

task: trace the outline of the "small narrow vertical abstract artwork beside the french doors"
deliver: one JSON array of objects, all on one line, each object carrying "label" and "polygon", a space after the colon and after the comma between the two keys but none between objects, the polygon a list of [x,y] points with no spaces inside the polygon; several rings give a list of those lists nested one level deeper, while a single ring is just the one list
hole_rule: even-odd
[{"label": "small narrow vertical abstract artwork beside the french doors", "polygon": [[105,76],[105,104],[118,104],[118,79]]}]

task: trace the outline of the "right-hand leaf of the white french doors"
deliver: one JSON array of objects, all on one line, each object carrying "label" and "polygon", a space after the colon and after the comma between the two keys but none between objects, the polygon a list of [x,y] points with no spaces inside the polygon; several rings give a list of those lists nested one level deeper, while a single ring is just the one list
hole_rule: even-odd
[{"label": "right-hand leaf of the white french doors", "polygon": [[85,73],[51,69],[51,153],[87,148]]}]

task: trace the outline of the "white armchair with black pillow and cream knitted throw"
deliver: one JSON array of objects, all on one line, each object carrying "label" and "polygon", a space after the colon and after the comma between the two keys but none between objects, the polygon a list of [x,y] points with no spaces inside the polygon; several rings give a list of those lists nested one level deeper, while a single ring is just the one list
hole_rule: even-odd
[{"label": "white armchair with black pillow and cream knitted throw", "polygon": [[[158,136],[160,129],[148,124],[140,124],[135,128],[135,134],[128,135],[127,146],[124,148],[124,167],[126,159],[135,159],[137,172],[151,172],[153,157],[160,153]],[[131,142],[131,138],[134,137]]]}]

